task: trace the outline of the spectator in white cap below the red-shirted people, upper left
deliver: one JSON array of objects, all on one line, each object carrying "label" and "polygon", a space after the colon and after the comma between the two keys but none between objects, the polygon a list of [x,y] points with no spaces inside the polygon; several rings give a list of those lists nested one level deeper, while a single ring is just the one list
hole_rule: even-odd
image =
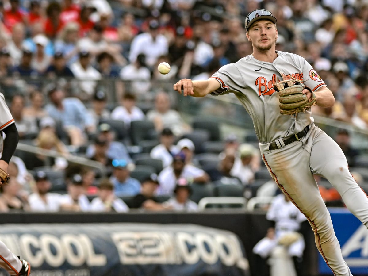
[{"label": "spectator in white cap below the red-shirted people, upper left", "polygon": [[49,39],[43,34],[38,34],[33,38],[33,42],[36,45],[36,51],[33,54],[31,67],[42,75],[50,66],[52,60],[52,57],[45,52],[45,47],[49,43]]}]

